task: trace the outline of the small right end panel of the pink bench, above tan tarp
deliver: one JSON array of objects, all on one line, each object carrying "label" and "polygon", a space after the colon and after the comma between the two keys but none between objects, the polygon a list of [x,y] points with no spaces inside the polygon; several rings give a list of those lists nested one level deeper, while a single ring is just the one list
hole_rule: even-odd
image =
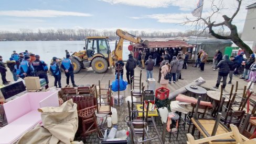
[{"label": "small right end panel of the pink bench, above tan tarp", "polygon": [[50,95],[39,102],[40,107],[59,107],[58,92],[50,92]]}]

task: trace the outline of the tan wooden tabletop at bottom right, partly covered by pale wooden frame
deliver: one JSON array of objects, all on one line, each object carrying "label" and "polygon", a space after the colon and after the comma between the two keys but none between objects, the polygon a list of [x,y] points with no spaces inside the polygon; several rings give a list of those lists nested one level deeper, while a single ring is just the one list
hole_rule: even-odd
[{"label": "tan wooden tabletop at bottom right, partly covered by pale wooden frame", "polygon": [[[212,129],[214,128],[214,125],[215,125],[215,119],[191,118],[191,121],[205,138],[211,136]],[[217,128],[216,135],[225,134],[228,132],[229,132],[229,130],[223,124],[220,123]],[[227,141],[227,140],[230,140],[230,141]],[[236,142],[236,140],[234,140],[234,137],[229,136],[229,137],[223,137],[219,140],[210,141],[209,143],[237,143],[237,142]]]}]

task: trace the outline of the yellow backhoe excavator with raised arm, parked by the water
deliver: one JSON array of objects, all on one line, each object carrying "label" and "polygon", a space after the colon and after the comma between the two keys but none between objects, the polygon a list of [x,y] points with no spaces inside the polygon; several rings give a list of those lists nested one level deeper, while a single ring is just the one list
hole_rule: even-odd
[{"label": "yellow backhoe excavator with raised arm, parked by the water", "polygon": [[105,73],[108,67],[114,66],[119,58],[123,58],[123,41],[127,40],[136,44],[148,46],[148,41],[143,41],[134,35],[123,31],[116,30],[116,34],[120,37],[119,42],[115,46],[115,50],[111,53],[109,46],[109,37],[87,37],[84,50],[74,52],[71,55],[71,61],[74,67],[74,73],[79,73],[82,68],[92,69],[96,73]]}]

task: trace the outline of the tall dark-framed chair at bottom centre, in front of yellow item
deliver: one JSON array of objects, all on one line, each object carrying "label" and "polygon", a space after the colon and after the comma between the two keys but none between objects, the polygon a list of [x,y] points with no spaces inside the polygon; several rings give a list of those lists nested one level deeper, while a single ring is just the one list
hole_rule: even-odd
[{"label": "tall dark-framed chair at bottom centre, in front of yellow item", "polygon": [[[156,131],[157,136],[150,138],[150,136],[147,133],[147,117],[148,117],[148,107],[150,105],[150,101],[148,101],[147,106],[146,106],[146,111],[145,111],[145,105],[144,102],[136,102],[136,103],[143,103],[142,106],[142,111],[133,111],[131,110],[131,105],[133,106],[133,102],[130,105],[130,101],[127,101],[128,103],[128,110],[129,110],[129,126],[131,129],[131,143],[134,143],[134,139],[135,139],[135,143],[144,143],[144,142],[149,142],[152,143],[152,140],[154,139],[158,139],[159,143],[163,143],[161,136],[159,135],[157,128],[156,128],[156,124],[154,121],[154,118],[152,117],[152,122],[153,122],[153,126],[154,126],[154,131]],[[135,103],[135,102],[134,102]],[[133,116],[135,115],[134,113],[142,113],[142,119],[133,119]],[[144,114],[145,113],[145,114]],[[144,120],[145,117],[145,120]],[[145,134],[146,134],[146,139],[145,139]],[[142,136],[142,141],[138,141],[137,136]]]}]

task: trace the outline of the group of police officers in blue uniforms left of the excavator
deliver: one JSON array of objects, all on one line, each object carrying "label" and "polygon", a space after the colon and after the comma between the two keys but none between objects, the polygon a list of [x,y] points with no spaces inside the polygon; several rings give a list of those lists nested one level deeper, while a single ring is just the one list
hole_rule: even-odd
[{"label": "group of police officers in blue uniforms left of the excavator", "polygon": [[[61,70],[60,67],[65,71],[67,77],[67,85],[69,85],[69,78],[71,79],[73,87],[77,87],[74,83],[73,65],[69,59],[70,54],[66,50],[66,58],[62,60],[61,65],[58,64],[58,58],[52,57],[52,62],[50,64],[50,71],[52,76],[54,76],[54,86],[61,88]],[[47,76],[48,66],[40,59],[39,55],[29,53],[27,50],[23,53],[16,53],[10,56],[9,61],[6,61],[7,67],[13,75],[13,80],[17,81],[19,78],[24,79],[25,77],[39,77],[40,79],[45,79],[48,86],[49,80]],[[8,85],[10,81],[6,80],[7,68],[3,63],[3,57],[0,56],[0,73],[3,80],[3,85]]]}]

